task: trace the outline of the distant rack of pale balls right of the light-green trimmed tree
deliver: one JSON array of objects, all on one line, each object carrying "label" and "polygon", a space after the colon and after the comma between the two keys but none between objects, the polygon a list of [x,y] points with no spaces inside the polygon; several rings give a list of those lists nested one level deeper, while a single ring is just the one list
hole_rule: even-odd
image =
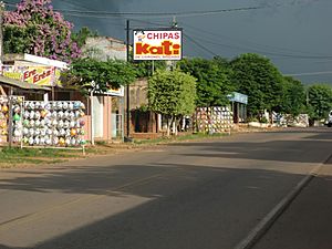
[{"label": "distant rack of pale balls right of the light-green trimmed tree", "polygon": [[196,111],[196,122],[199,132],[228,132],[232,126],[232,113],[228,107],[199,107]]}]

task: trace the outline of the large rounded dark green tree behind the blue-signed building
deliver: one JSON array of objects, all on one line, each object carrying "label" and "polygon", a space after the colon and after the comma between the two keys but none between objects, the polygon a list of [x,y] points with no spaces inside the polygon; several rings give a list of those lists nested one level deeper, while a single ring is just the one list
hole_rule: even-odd
[{"label": "large rounded dark green tree behind the blue-signed building", "polygon": [[282,100],[282,75],[264,56],[247,53],[230,62],[231,80],[237,91],[248,95],[248,112],[260,117],[264,110],[280,108]]}]

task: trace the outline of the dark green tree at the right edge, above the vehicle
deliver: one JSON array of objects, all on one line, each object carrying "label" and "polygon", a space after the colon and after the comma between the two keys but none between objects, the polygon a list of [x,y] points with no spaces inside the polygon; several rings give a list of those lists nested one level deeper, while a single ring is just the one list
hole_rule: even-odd
[{"label": "dark green tree at the right edge, above the vehicle", "polygon": [[312,120],[325,118],[332,110],[332,87],[328,84],[314,84],[308,87],[309,115]]}]

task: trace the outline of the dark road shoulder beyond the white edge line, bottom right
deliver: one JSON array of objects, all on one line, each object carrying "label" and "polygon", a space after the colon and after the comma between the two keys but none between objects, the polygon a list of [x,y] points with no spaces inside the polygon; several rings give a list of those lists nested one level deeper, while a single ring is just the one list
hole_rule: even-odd
[{"label": "dark road shoulder beyond the white edge line, bottom right", "polygon": [[255,249],[332,248],[332,165],[302,190]]}]

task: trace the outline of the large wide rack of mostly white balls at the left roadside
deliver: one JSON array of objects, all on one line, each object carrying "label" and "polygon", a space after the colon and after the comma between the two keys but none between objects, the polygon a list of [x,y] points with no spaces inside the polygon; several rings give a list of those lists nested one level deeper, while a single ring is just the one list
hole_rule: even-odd
[{"label": "large wide rack of mostly white balls at the left roadside", "polygon": [[23,143],[56,147],[84,145],[84,108],[79,101],[24,102]]}]

